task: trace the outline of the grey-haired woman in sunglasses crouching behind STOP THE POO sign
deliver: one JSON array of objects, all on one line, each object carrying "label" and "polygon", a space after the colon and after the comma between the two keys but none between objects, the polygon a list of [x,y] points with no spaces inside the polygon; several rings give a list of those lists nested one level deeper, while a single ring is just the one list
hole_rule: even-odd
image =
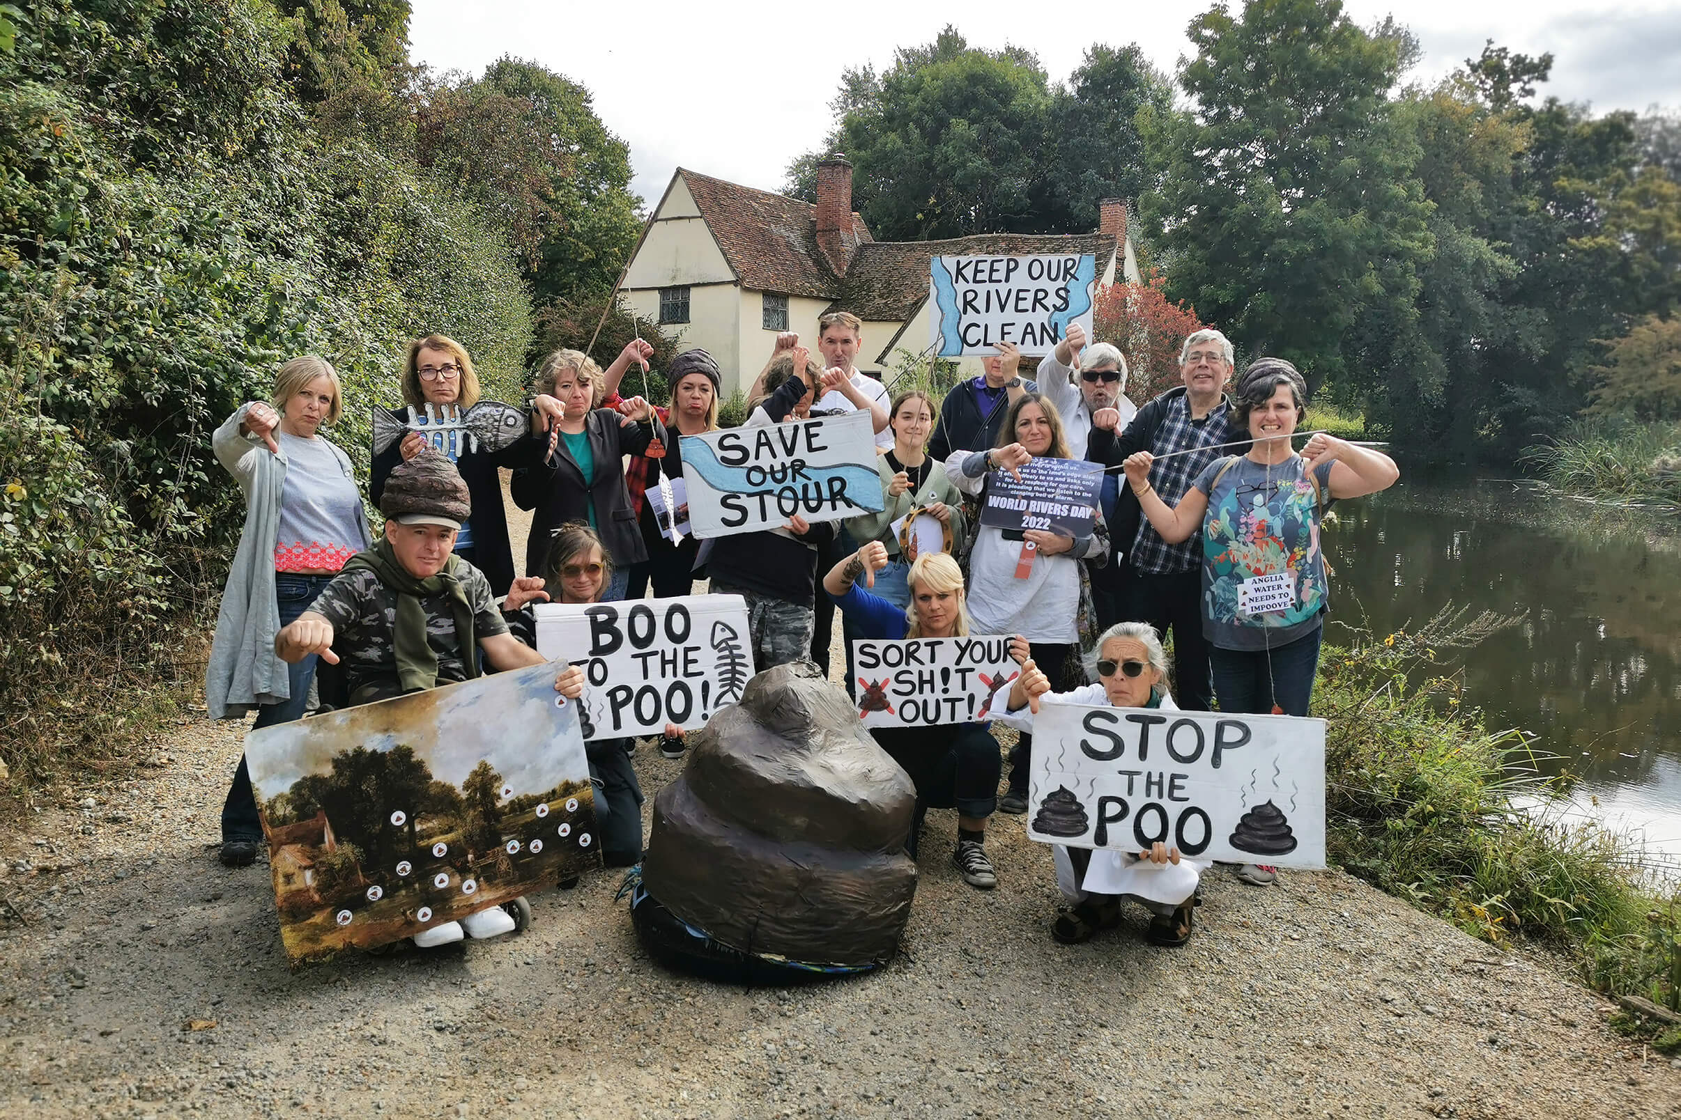
[{"label": "grey-haired woman in sunglasses crouching behind STOP THE POO sign", "polygon": [[[1072,692],[1051,692],[1051,680],[1029,660],[1010,685],[1007,704],[995,704],[999,722],[1020,732],[1034,727],[1034,715],[1046,699],[1061,704],[1084,704],[1133,709],[1178,710],[1162,682],[1167,653],[1150,623],[1116,623],[1103,631],[1086,667],[1098,683]],[[1183,945],[1190,940],[1197,905],[1199,863],[1178,848],[1157,843],[1148,851],[1113,851],[1109,848],[1069,848],[1052,845],[1056,878],[1066,907],[1051,925],[1051,935],[1064,945],[1091,940],[1098,930],[1121,924],[1121,902],[1131,898],[1150,910],[1145,935],[1158,945]]]}]

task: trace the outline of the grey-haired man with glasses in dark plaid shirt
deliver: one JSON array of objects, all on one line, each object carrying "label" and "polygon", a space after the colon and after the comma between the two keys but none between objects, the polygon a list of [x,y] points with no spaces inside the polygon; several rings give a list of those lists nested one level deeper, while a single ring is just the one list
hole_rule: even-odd
[{"label": "grey-haired man with glasses in dark plaid shirt", "polygon": [[[1150,485],[1170,507],[1177,505],[1192,479],[1222,455],[1241,455],[1242,447],[1214,448],[1244,438],[1232,427],[1232,403],[1225,385],[1232,378],[1232,344],[1219,331],[1195,331],[1180,348],[1182,386],[1168,390],[1138,410],[1121,435],[1115,433],[1120,413],[1099,410],[1093,416],[1086,458],[1120,467],[1133,452],[1157,457]],[[1188,455],[1175,452],[1190,450]],[[1173,455],[1172,458],[1162,458]],[[1121,618],[1157,628],[1162,638],[1173,631],[1173,699],[1182,709],[1209,710],[1209,643],[1202,635],[1202,534],[1183,544],[1168,544],[1140,516],[1131,487],[1121,487],[1113,526],[1120,574]]]}]

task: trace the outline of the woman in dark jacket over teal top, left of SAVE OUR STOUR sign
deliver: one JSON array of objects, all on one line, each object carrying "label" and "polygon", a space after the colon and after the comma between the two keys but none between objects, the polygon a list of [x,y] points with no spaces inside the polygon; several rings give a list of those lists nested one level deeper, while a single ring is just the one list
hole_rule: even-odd
[{"label": "woman in dark jacket over teal top, left of SAVE OUR STOUR sign", "polygon": [[563,410],[555,423],[553,450],[514,472],[514,505],[533,510],[526,541],[526,573],[540,573],[551,539],[570,521],[602,537],[615,571],[602,601],[625,598],[630,564],[647,559],[635,509],[625,489],[624,457],[666,443],[666,428],[640,396],[602,408],[607,393],[602,368],[575,349],[556,349],[538,369],[538,391]]}]

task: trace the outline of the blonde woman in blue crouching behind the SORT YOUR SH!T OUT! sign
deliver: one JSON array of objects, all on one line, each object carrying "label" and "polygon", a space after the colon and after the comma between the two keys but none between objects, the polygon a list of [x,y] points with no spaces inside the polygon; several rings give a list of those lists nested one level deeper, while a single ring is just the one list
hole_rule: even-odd
[{"label": "blonde woman in blue crouching behind the SORT YOUR SH!T OUT! sign", "polygon": [[[859,579],[874,583],[888,566],[888,549],[871,541],[835,564],[824,578],[842,618],[859,638],[965,638],[970,633],[963,596],[963,569],[945,552],[918,556],[911,564],[911,604],[904,610],[871,594]],[[1025,643],[1012,643],[1012,655],[1025,658]],[[916,818],[906,850],[916,858],[916,840],[930,808],[956,809],[956,848],[951,863],[963,882],[980,890],[999,885],[999,873],[987,858],[987,818],[997,808],[999,742],[985,724],[936,724],[933,727],[871,729],[881,749],[904,767],[916,784]]]}]

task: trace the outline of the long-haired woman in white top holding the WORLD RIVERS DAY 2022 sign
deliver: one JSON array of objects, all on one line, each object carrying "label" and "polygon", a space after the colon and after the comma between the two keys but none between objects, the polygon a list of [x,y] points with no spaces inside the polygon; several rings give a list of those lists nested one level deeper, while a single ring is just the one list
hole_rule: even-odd
[{"label": "long-haired woman in white top holding the WORLD RIVERS DAY 2022 sign", "polygon": [[[1025,393],[1010,405],[999,432],[999,447],[988,452],[953,452],[946,460],[946,474],[958,490],[975,495],[985,507],[992,472],[1015,472],[1035,458],[1069,458],[1069,448],[1056,406],[1039,393]],[[1079,561],[1101,568],[1109,559],[1103,512],[1093,512],[1093,532],[1079,539],[1049,529],[1005,532],[995,526],[982,526],[968,556],[968,596],[975,603],[980,633],[1024,635],[1032,646],[1034,662],[1052,682],[1064,678],[1079,652]],[[1027,811],[1032,747],[1034,737],[1024,734],[1010,751],[1010,788],[999,801],[1005,813]]]}]

